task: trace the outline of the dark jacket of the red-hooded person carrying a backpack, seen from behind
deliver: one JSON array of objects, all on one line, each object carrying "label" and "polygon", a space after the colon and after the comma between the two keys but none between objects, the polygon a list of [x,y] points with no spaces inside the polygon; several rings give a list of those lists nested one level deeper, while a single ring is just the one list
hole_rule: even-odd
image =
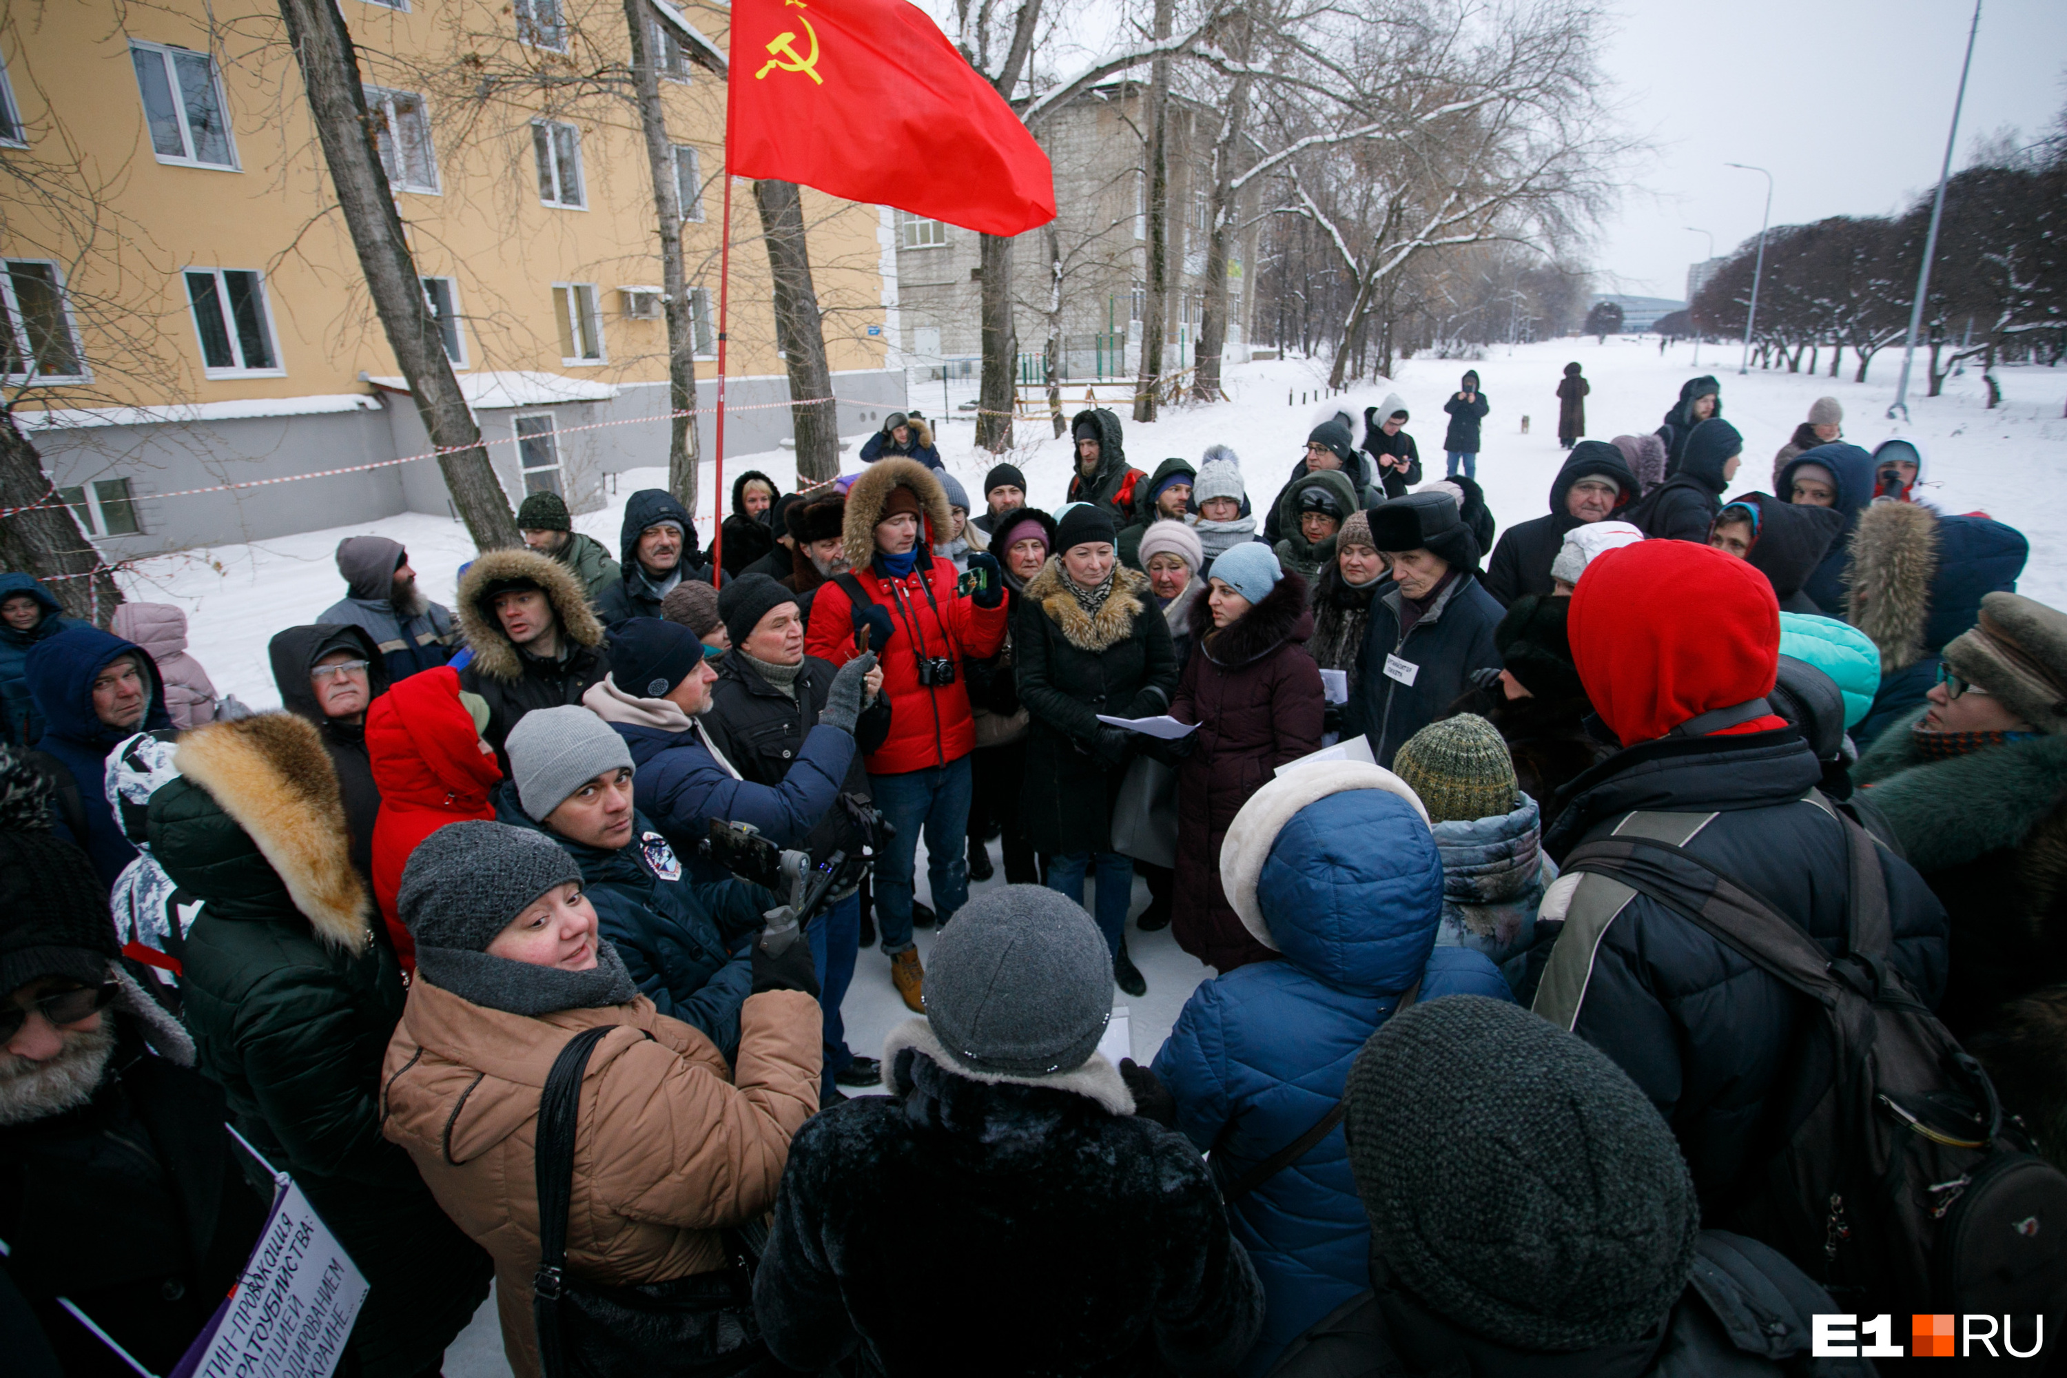
[{"label": "dark jacket of the red-hooded person carrying a backpack, seen from behind", "polygon": [[[1631,810],[1714,812],[1687,849],[1838,952],[1846,928],[1846,835],[1802,795],[1823,777],[1794,727],[1660,738],[1616,752],[1567,787],[1544,828],[1563,866]],[[1881,851],[1893,963],[1929,1004],[1945,992],[1945,907],[1922,876]],[[1536,919],[1538,952],[1563,911]],[[1776,1145],[1759,1134],[1773,1078],[1794,1054],[1800,998],[1747,957],[1649,897],[1614,917],[1594,957],[1573,1031],[1614,1058],[1678,1134],[1701,1217],[1726,1219],[1742,1173]]]}]

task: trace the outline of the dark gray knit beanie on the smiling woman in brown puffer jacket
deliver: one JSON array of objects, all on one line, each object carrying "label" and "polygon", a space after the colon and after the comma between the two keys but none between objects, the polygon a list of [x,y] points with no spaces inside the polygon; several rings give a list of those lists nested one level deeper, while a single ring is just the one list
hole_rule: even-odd
[{"label": "dark gray knit beanie on the smiling woman in brown puffer jacket", "polygon": [[581,868],[560,843],[531,828],[469,818],[415,845],[395,909],[418,948],[486,952],[525,905],[568,880],[579,884]]}]

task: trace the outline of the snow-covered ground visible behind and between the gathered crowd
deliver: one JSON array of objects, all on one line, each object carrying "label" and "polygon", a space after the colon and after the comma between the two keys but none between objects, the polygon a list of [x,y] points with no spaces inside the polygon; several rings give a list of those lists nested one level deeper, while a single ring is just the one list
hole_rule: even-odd
[{"label": "snow-covered ground visible behind and between the gathered crowd", "polygon": [[[1377,405],[1385,393],[1397,390],[1410,411],[1408,432],[1420,442],[1426,477],[1443,473],[1443,401],[1457,388],[1466,368],[1478,370],[1482,390],[1492,403],[1484,421],[1484,450],[1478,457],[1478,481],[1486,490],[1501,529],[1542,514],[1550,479],[1563,463],[1556,444],[1556,382],[1567,362],[1577,359],[1594,384],[1587,397],[1587,434],[1610,438],[1621,432],[1658,428],[1666,407],[1678,397],[1683,380],[1695,374],[1722,378],[1722,415],[1745,432],[1745,467],[1732,492],[1763,490],[1771,481],[1771,455],[1786,444],[1794,426],[1809,415],[1809,403],[1829,393],[1844,403],[1846,440],[1873,448],[1902,430],[1883,413],[1893,397],[1902,359],[1883,351],[1873,364],[1867,384],[1854,384],[1852,364],[1840,380],[1827,376],[1757,372],[1738,378],[1734,347],[1701,347],[1701,364],[1693,366],[1693,347],[1676,345],[1664,355],[1656,337],[1610,337],[1604,345],[1592,339],[1567,339],[1507,349],[1492,347],[1482,359],[1410,359],[1389,384],[1358,386],[1327,405],[1348,409],[1362,438],[1362,409]],[[1234,401],[1211,407],[1180,407],[1166,411],[1153,426],[1127,424],[1127,457],[1141,469],[1153,469],[1170,455],[1193,463],[1207,444],[1228,444],[1242,457],[1242,473],[1251,498],[1269,502],[1284,483],[1292,463],[1304,452],[1306,432],[1323,403],[1323,362],[1286,359],[1251,364],[1230,370],[1228,390]],[[1908,430],[1924,444],[1931,465],[1931,498],[1951,512],[1986,510],[2019,527],[2032,543],[2032,562],[2019,583],[2024,593],[2067,607],[2067,566],[2059,552],[2067,537],[2067,370],[2005,368],[1999,378],[2005,403],[1984,409],[1978,372],[1968,372],[1947,384],[1943,397],[1920,397],[1912,388],[1914,426]],[[1300,405],[1298,395],[1308,401]],[[1290,395],[1290,403],[1288,403]],[[1071,403],[1071,411],[1081,407]],[[918,399],[924,399],[924,388]],[[920,405],[926,405],[920,401]],[[932,407],[928,405],[928,411]],[[1521,417],[1530,417],[1530,434]],[[664,446],[655,428],[655,444]],[[998,461],[976,450],[974,426],[965,417],[940,428],[940,452],[949,469],[982,502],[984,473]],[[1011,459],[1027,475],[1036,506],[1056,506],[1069,486],[1069,442],[1048,436],[1046,424],[1021,424],[1021,444]],[[847,467],[860,446],[847,450]],[[765,455],[734,455],[730,475],[740,469],[761,469],[788,486],[796,477],[796,457],[790,450]],[[713,465],[703,471],[703,502],[699,525],[703,539],[711,537]],[[597,537],[612,552],[618,547],[618,521],[624,498],[639,488],[666,481],[666,469],[635,469],[622,473],[606,510],[577,516],[577,529]],[[430,597],[449,603],[459,566],[473,556],[463,527],[444,516],[403,514],[366,527],[310,531],[296,537],[256,541],[248,545],[217,545],[178,556],[161,556],[141,564],[126,576],[126,597],[138,601],[178,603],[188,609],[192,653],[209,669],[215,686],[252,707],[277,707],[273,671],[267,661],[267,640],[283,626],[310,622],[318,612],[343,597],[343,583],[331,562],[337,541],[345,535],[378,533],[407,545],[409,560]],[[992,849],[996,859],[996,849]],[[994,880],[992,884],[1002,884]],[[920,897],[924,882],[924,849],[920,853]],[[1137,888],[1135,907],[1147,903]],[[1131,934],[1131,950],[1149,981],[1143,1000],[1131,1000],[1135,1054],[1153,1056],[1170,1023],[1207,971],[1184,957],[1168,930]],[[930,936],[920,934],[920,950]],[[1122,998],[1124,1000],[1124,998]],[[858,1052],[881,1047],[883,1035],[901,1019],[903,1004],[889,985],[889,965],[881,954],[864,957],[854,992],[845,1002],[850,1043]]]}]

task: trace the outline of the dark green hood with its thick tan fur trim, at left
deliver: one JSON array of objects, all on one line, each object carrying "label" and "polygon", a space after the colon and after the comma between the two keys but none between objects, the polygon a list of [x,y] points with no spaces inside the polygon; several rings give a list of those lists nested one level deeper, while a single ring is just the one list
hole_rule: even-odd
[{"label": "dark green hood with its thick tan fur trim, at left", "polygon": [[258,849],[318,938],[366,950],[372,905],[351,870],[337,769],[314,723],[294,713],[209,723],[180,738],[172,762],[180,779],[151,797],[151,851],[165,874],[211,905],[248,899],[244,868],[182,789],[190,785]]}]

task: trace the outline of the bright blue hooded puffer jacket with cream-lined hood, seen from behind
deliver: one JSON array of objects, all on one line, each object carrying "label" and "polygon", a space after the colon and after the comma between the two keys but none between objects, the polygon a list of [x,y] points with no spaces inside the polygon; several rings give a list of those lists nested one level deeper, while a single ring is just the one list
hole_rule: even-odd
[{"label": "bright blue hooded puffer jacket with cream-lined hood, seen from behind", "polygon": [[[1284,961],[1199,985],[1155,1054],[1178,1128],[1213,1153],[1222,1184],[1341,1099],[1364,1039],[1416,977],[1418,1000],[1513,1000],[1484,952],[1434,946],[1443,859],[1397,795],[1358,789],[1294,814],[1263,864],[1257,903]],[[1370,1287],[1370,1221],[1341,1128],[1228,1215],[1267,1308],[1240,1372],[1263,1374],[1290,1341]]]}]

